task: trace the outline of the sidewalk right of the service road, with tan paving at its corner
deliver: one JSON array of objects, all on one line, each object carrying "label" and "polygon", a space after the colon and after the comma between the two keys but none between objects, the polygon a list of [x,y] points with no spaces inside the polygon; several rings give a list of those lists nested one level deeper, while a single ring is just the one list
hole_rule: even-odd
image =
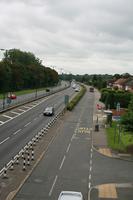
[{"label": "sidewalk right of the service road, with tan paving at its corner", "polygon": [[[97,109],[97,104],[103,105],[99,102],[100,94],[95,91],[95,102],[94,102],[94,116],[93,116],[93,148],[108,157],[123,159],[126,161],[133,162],[133,156],[130,154],[120,154],[119,152],[114,152],[112,149],[108,148],[107,136],[105,129],[105,118],[102,110]],[[96,124],[98,124],[98,130],[96,130]]]}]

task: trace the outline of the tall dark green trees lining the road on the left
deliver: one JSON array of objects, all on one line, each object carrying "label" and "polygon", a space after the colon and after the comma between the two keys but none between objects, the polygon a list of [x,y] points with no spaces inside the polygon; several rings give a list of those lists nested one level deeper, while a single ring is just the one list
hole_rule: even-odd
[{"label": "tall dark green trees lining the road on the left", "polygon": [[10,49],[0,62],[0,92],[53,86],[59,81],[58,73],[42,65],[30,52]]}]

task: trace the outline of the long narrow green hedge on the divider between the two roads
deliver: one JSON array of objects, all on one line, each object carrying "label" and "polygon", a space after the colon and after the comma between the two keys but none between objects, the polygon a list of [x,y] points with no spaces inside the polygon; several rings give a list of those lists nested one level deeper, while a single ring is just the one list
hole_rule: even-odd
[{"label": "long narrow green hedge on the divider between the two roads", "polygon": [[71,111],[77,105],[77,103],[80,101],[80,99],[83,97],[85,92],[86,92],[86,87],[84,85],[82,85],[81,91],[78,92],[78,94],[67,105],[67,110]]}]

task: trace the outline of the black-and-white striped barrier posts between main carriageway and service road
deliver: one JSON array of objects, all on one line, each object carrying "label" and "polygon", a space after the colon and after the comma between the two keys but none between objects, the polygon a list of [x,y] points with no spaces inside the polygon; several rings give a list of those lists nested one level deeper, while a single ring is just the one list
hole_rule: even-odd
[{"label": "black-and-white striped barrier posts between main carriageway and service road", "polygon": [[16,156],[14,156],[8,164],[5,164],[3,169],[0,171],[0,176],[3,178],[8,178],[8,170],[14,170],[14,165],[22,165],[22,171],[26,171],[27,167],[32,165],[32,161],[35,160],[34,148],[39,143],[48,130],[54,125],[56,120],[64,115],[66,108],[63,108],[55,117],[42,128],[26,145],[22,148]]}]

